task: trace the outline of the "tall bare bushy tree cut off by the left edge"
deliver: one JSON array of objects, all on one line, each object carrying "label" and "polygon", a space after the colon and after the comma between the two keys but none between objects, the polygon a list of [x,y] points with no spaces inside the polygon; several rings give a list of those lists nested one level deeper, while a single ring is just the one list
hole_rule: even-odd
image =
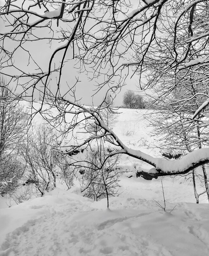
[{"label": "tall bare bushy tree cut off by the left edge", "polygon": [[24,173],[19,149],[27,132],[26,108],[13,101],[12,91],[0,77],[0,193],[12,193]]}]

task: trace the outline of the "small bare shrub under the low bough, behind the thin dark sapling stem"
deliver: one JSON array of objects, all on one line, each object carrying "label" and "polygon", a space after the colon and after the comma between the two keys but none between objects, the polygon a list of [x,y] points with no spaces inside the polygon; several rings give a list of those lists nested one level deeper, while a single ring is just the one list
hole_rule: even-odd
[{"label": "small bare shrub under the low bough, behind the thin dark sapling stem", "polygon": [[107,207],[109,207],[108,196],[119,194],[119,174],[116,169],[120,157],[117,155],[106,159],[107,154],[108,147],[104,141],[97,141],[97,145],[89,149],[85,166],[79,172],[82,193],[86,197],[94,198],[95,201],[106,197]]}]

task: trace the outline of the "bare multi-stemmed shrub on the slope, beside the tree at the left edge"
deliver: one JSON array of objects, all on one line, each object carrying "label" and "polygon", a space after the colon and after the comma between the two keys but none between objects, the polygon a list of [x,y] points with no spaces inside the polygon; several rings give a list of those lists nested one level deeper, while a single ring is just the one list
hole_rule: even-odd
[{"label": "bare multi-stemmed shrub on the slope, beside the tree at the left edge", "polygon": [[28,132],[27,142],[22,146],[26,162],[25,175],[29,181],[25,185],[33,183],[42,196],[45,190],[56,187],[58,153],[53,150],[55,141],[55,131],[45,124],[39,124]]}]

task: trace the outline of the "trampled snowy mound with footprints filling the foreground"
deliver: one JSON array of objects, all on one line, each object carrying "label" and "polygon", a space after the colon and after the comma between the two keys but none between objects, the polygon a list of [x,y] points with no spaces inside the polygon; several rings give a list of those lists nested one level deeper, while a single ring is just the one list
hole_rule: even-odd
[{"label": "trampled snowy mound with footprints filling the foreground", "polygon": [[110,198],[111,210],[105,199],[93,202],[61,189],[3,209],[0,255],[208,255],[207,204],[178,203],[169,213],[175,204],[167,203],[164,213],[134,192]]}]

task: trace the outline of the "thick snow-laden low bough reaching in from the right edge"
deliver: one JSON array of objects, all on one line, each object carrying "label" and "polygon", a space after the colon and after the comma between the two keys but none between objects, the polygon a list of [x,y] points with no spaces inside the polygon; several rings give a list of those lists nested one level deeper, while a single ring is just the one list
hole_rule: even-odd
[{"label": "thick snow-laden low bough reaching in from the right edge", "polygon": [[[109,151],[107,158],[116,154],[126,154],[133,158],[142,160],[150,164],[153,167],[147,171],[147,175],[145,177],[147,179],[156,178],[158,176],[186,174],[190,170],[209,162],[209,148],[195,150],[184,156],[182,159],[178,160],[166,160],[155,158],[140,150],[133,150],[131,148],[128,148],[125,144],[123,144],[123,142],[118,138],[118,136],[104,123],[100,115],[99,108],[95,110],[92,108],[81,106],[78,103],[73,103],[69,100],[65,100],[65,102],[74,105],[74,107],[78,108],[78,112],[81,114],[86,112],[87,119],[89,118],[89,116],[91,116],[91,119],[94,119],[95,124],[98,126],[98,131],[100,131],[95,135],[90,134],[88,138],[83,139],[83,142],[81,144],[66,145],[67,147],[71,148],[72,151],[75,150],[75,148],[78,150],[79,146],[84,146],[86,143],[90,144],[93,140],[97,140],[100,139],[101,137],[107,136],[107,141],[116,146],[115,150]],[[209,101],[205,102],[202,105],[201,110],[208,104]],[[63,108],[62,110],[65,111]],[[73,124],[73,126],[75,126],[75,124]]]}]

